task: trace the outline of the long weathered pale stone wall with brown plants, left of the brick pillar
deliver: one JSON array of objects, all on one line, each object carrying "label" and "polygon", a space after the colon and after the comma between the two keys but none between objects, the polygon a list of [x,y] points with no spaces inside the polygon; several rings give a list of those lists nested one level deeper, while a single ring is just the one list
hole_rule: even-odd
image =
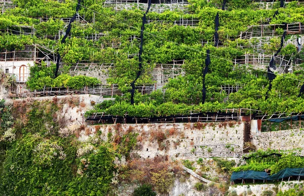
[{"label": "long weathered pale stone wall with brown plants, left of the brick pillar", "polygon": [[[94,136],[95,126],[88,126]],[[201,157],[202,154],[218,153],[222,151],[233,154],[243,148],[242,122],[227,123],[185,123],[185,124],[120,124],[119,131],[133,130],[137,137],[137,150],[142,158],[154,158],[157,155],[169,155],[177,159],[192,159]],[[108,139],[118,131],[117,125],[102,125],[100,138]],[[89,138],[81,134],[80,140]],[[223,145],[219,145],[223,144]],[[235,144],[227,145],[227,144]],[[204,145],[213,145],[200,147]]]}]

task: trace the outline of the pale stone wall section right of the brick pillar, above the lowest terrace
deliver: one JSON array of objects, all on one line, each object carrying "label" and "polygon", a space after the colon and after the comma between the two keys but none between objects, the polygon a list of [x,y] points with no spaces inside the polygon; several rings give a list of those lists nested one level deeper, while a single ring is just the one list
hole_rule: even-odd
[{"label": "pale stone wall section right of the brick pillar, above the lowest terrace", "polygon": [[252,142],[258,149],[290,150],[304,148],[304,131],[301,129],[251,134]]}]

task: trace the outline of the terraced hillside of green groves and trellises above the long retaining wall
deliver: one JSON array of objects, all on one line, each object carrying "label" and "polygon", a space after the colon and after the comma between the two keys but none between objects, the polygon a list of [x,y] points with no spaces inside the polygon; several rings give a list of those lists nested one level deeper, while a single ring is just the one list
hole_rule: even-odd
[{"label": "terraced hillside of green groves and trellises above the long retaining wall", "polygon": [[[280,8],[280,2],[231,1],[223,10],[219,9],[221,1],[155,3],[146,16],[139,55],[146,3],[82,2],[75,14],[77,2],[73,1],[16,1],[16,8],[7,9],[1,18],[1,59],[36,62],[37,68],[31,68],[28,75],[30,90],[81,89],[99,83],[102,95],[124,94],[123,100],[128,103],[131,83],[135,81],[136,104],[197,105],[202,102],[203,69],[206,51],[210,50],[211,64],[205,76],[206,102],[219,106],[206,110],[250,107],[267,113],[301,110],[301,96],[297,98],[303,85],[300,43],[303,39],[298,39],[304,20],[301,2],[286,1]],[[63,43],[74,14],[75,20]],[[283,47],[277,53],[284,31]],[[55,79],[58,55],[61,75]],[[269,88],[267,68],[271,59],[274,59],[271,71],[277,77]],[[139,70],[141,73],[135,80]],[[69,75],[94,76],[100,82],[90,79],[73,86],[67,82]],[[106,88],[115,89],[115,93]],[[180,107],[187,113],[203,106]]]}]

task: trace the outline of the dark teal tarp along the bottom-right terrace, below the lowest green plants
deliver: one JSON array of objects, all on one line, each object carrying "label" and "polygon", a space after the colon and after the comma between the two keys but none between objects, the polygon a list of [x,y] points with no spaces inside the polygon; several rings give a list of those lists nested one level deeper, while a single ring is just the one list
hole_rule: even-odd
[{"label": "dark teal tarp along the bottom-right terrace, below the lowest green plants", "polygon": [[304,176],[304,168],[286,168],[271,176],[266,172],[256,172],[252,170],[233,172],[231,180],[279,180],[290,176]]}]

